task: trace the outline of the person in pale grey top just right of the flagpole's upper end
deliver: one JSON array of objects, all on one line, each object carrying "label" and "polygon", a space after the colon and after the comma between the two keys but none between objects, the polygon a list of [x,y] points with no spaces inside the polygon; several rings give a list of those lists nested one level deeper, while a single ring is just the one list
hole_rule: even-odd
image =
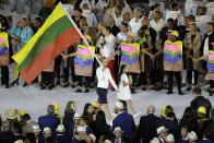
[{"label": "person in pale grey top just right of the flagpole's upper end", "polygon": [[82,10],[83,10],[82,15],[84,17],[86,17],[87,26],[88,27],[97,27],[96,16],[94,15],[94,13],[92,13],[92,11],[90,9],[90,3],[88,2],[84,2],[82,4],[83,4],[82,5]]}]

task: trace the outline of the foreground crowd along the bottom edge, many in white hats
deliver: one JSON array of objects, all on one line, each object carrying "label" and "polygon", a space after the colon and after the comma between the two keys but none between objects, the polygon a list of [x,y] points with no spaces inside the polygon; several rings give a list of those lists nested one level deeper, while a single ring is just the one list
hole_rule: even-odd
[{"label": "foreground crowd along the bottom edge, many in white hats", "polygon": [[162,107],[160,117],[155,106],[134,121],[127,103],[115,102],[115,118],[107,123],[106,114],[98,103],[87,103],[83,112],[76,112],[76,104],[68,102],[64,115],[58,103],[50,103],[47,115],[31,118],[26,110],[9,109],[7,119],[0,118],[1,143],[213,143],[214,109],[210,100],[193,88],[194,99],[180,119],[171,105]]}]

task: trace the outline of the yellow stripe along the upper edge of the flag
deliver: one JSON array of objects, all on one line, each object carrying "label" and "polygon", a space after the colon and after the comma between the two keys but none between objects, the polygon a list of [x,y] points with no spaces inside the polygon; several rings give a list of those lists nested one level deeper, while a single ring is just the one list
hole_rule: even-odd
[{"label": "yellow stripe along the upper edge of the flag", "polygon": [[12,58],[16,61],[16,63],[21,64],[24,59],[26,58],[26,56],[29,53],[29,51],[32,50],[32,48],[34,47],[34,45],[36,44],[36,41],[38,40],[38,38],[40,36],[43,36],[43,34],[45,33],[45,31],[56,21],[58,21],[60,17],[64,16],[66,12],[63,11],[63,9],[61,8],[60,4],[58,4],[55,8],[55,11],[49,15],[49,17],[46,20],[46,22],[44,23],[44,25],[40,27],[40,29],[28,40],[28,43],[16,53],[14,55]]}]

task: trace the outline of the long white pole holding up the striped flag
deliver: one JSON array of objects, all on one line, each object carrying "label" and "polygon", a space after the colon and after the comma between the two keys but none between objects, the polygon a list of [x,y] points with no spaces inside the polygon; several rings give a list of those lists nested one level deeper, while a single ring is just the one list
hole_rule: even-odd
[{"label": "long white pole holding up the striped flag", "polygon": [[[59,4],[61,5],[61,8],[63,9],[63,5],[61,4],[61,2],[59,2]],[[87,40],[84,38],[83,34],[81,33],[81,31],[79,29],[79,27],[76,26],[76,24],[73,22],[73,20],[71,19],[71,16],[69,15],[69,13],[63,9],[63,11],[66,12],[67,16],[69,17],[69,20],[71,21],[71,23],[73,24],[73,26],[75,27],[75,29],[78,31],[78,33],[80,34],[80,36],[83,38],[84,43],[87,45],[87,47],[90,48],[90,51],[94,55],[94,57],[96,58],[96,60],[98,61],[98,63],[100,64],[102,68],[104,68],[104,65],[102,64],[102,62],[99,61],[98,57],[95,55],[95,52],[92,50],[90,44],[87,43]]]}]

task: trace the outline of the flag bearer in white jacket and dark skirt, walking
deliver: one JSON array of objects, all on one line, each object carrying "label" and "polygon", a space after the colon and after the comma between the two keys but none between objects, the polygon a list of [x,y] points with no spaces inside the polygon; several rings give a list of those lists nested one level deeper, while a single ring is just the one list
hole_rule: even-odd
[{"label": "flag bearer in white jacket and dark skirt, walking", "polygon": [[109,119],[109,121],[111,121],[111,115],[109,112],[108,102],[107,102],[109,82],[112,84],[116,91],[118,91],[118,87],[112,80],[110,70],[107,68],[108,59],[106,57],[102,57],[100,62],[103,67],[99,67],[96,70],[96,76],[98,81],[96,92],[98,95],[99,105],[104,107],[104,112],[106,114],[106,117]]}]

